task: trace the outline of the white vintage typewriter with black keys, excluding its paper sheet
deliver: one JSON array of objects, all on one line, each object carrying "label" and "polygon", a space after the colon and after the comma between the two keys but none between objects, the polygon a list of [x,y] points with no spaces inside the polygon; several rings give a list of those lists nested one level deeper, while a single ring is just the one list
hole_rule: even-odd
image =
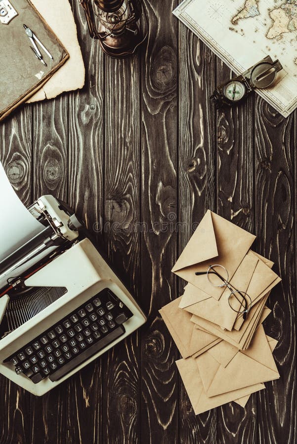
[{"label": "white vintage typewriter with black keys, excluding its paper sheet", "polygon": [[28,210],[42,229],[0,261],[0,372],[40,396],[146,318],[65,203]]}]

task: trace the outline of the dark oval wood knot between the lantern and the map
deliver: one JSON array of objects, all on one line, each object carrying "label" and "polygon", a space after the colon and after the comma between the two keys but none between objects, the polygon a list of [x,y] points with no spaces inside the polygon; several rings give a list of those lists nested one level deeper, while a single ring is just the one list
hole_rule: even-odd
[{"label": "dark oval wood knot between the lantern and the map", "polygon": [[151,67],[151,79],[153,88],[162,93],[175,88],[176,62],[170,46],[164,46],[159,51]]}]

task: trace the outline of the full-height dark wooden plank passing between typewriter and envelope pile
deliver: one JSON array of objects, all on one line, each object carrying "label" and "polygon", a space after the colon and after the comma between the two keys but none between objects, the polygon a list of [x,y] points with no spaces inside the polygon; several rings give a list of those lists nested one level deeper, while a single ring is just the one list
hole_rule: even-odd
[{"label": "full-height dark wooden plank passing between typewriter and envelope pile", "polygon": [[170,0],[143,2],[149,35],[142,58],[141,304],[149,315],[142,329],[141,443],[175,443],[178,436],[176,352],[158,313],[175,297],[170,273],[176,259],[171,226],[177,222],[175,6]]}]

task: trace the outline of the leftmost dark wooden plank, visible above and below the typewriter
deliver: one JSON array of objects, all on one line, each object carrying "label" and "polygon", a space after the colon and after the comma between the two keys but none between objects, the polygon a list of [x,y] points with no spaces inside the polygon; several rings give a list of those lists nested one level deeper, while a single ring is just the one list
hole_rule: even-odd
[{"label": "leftmost dark wooden plank, visible above and below the typewriter", "polygon": [[[32,108],[25,106],[0,124],[0,162],[25,205],[32,203],[31,122]],[[0,375],[0,399],[0,443],[25,443],[30,437],[30,394]]]}]

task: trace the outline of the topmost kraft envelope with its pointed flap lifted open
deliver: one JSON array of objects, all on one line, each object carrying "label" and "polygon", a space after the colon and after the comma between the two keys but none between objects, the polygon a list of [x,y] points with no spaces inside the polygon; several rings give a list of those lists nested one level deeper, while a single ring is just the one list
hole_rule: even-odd
[{"label": "topmost kraft envelope with its pointed flap lifted open", "polygon": [[254,240],[254,234],[208,210],[171,271],[218,300],[224,288],[212,287],[195,271],[220,264],[232,279]]}]

